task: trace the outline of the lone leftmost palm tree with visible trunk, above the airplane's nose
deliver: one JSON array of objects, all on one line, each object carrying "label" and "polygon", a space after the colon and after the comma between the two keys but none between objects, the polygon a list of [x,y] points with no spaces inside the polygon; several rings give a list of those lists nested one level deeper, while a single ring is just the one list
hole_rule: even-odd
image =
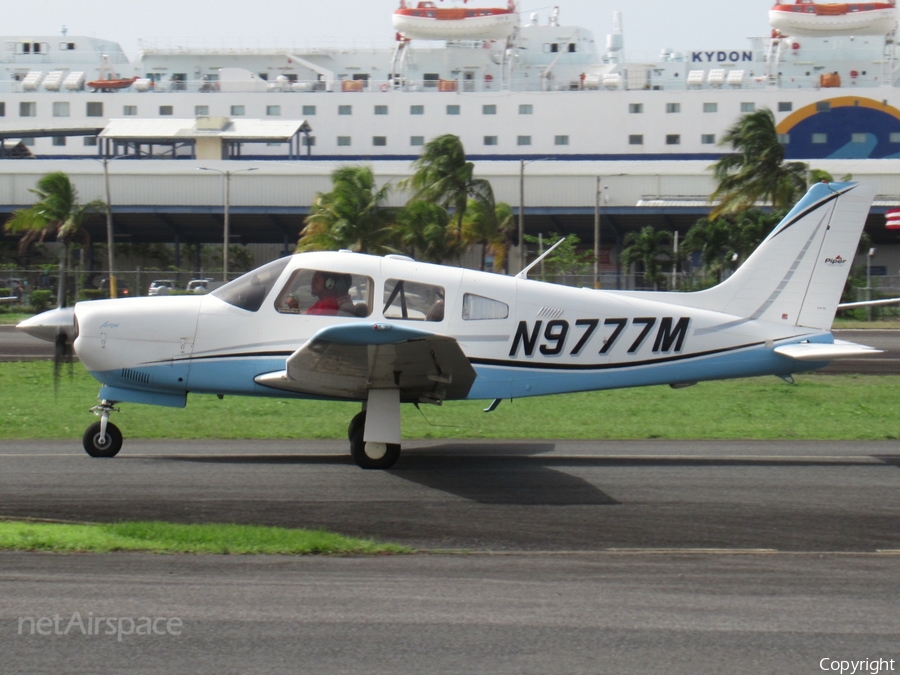
[{"label": "lone leftmost palm tree with visible trunk, above the airplane's nose", "polygon": [[85,246],[90,244],[90,237],[83,228],[84,221],[91,213],[102,211],[107,206],[99,199],[79,204],[78,191],[62,171],[44,175],[38,181],[37,188],[30,191],[38,196],[37,203],[13,213],[5,228],[11,234],[21,235],[20,255],[32,242],[44,241],[48,235],[56,235],[56,240],[62,244],[57,300],[60,307],[65,307],[69,247],[73,241],[80,241]]}]

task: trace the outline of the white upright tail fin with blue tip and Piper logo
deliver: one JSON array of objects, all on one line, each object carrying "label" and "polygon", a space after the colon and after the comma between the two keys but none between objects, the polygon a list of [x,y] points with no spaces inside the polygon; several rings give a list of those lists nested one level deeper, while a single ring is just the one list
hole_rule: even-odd
[{"label": "white upright tail fin with blue tip and Piper logo", "polygon": [[685,304],[831,328],[874,196],[870,185],[813,185],[731,277]]}]

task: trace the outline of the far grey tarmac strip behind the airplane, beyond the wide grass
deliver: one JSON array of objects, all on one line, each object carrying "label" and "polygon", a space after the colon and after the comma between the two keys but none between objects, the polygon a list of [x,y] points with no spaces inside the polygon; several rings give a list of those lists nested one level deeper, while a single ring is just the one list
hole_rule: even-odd
[{"label": "far grey tarmac strip behind the airplane, beyond the wide grass", "polygon": [[[900,374],[900,330],[836,330],[835,337],[884,350],[866,358],[835,361],[822,373],[864,373],[869,375]],[[13,326],[0,326],[0,362],[35,361],[53,358],[53,345],[17,331]]]}]

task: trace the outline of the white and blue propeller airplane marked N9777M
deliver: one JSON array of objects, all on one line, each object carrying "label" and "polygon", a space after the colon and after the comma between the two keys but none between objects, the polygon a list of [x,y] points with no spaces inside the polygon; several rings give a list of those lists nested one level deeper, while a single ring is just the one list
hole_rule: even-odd
[{"label": "white and blue propeller airplane marked N9777M", "polygon": [[[80,302],[19,328],[74,341],[101,383],[83,438],[112,457],[119,403],[188,393],[362,403],[365,469],[400,456],[401,403],[503,399],[777,375],[879,350],[831,325],[874,188],[820,183],[728,279],[690,292],[570,288],[349,251],[275,260],[208,295]],[[549,253],[549,252],[548,252]]]}]

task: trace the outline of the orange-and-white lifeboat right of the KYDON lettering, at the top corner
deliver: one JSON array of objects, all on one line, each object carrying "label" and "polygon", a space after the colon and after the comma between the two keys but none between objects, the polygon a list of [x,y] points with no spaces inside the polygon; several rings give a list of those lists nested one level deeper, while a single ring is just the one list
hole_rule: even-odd
[{"label": "orange-and-white lifeboat right of the KYDON lettering, at the top corner", "polygon": [[860,3],[776,2],[769,23],[783,35],[887,35],[897,27],[896,0]]}]

